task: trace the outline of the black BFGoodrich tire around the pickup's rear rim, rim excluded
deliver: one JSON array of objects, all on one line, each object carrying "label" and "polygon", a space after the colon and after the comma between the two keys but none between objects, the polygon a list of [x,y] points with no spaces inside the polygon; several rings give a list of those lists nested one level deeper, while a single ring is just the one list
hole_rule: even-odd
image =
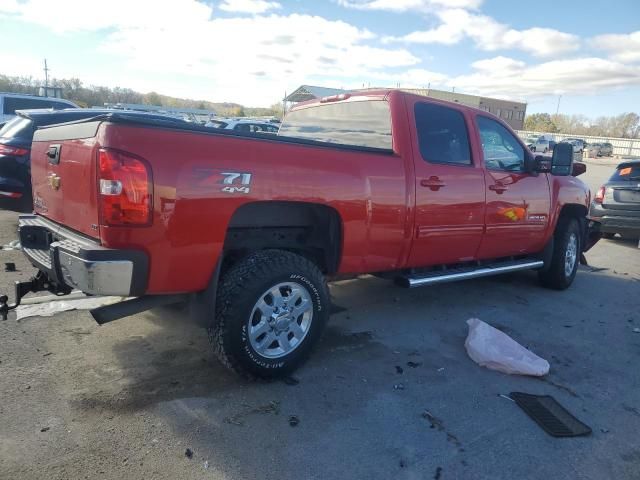
[{"label": "black BFGoodrich tire around the pickup's rear rim, rim excluded", "polygon": [[[281,282],[304,286],[313,303],[309,330],[289,354],[277,359],[260,355],[251,345],[248,323],[256,301]],[[255,252],[223,274],[218,287],[215,318],[208,326],[209,341],[223,365],[246,378],[277,378],[290,374],[309,356],[329,318],[327,283],[310,260],[284,250]]]}]

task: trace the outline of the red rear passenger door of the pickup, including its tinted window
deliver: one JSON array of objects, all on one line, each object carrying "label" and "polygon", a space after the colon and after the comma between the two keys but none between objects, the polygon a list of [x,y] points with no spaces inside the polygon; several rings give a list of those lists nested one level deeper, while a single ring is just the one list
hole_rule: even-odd
[{"label": "red rear passenger door of the pickup, including its tinted window", "polygon": [[484,229],[485,183],[464,109],[407,97],[416,176],[409,266],[476,258]]}]

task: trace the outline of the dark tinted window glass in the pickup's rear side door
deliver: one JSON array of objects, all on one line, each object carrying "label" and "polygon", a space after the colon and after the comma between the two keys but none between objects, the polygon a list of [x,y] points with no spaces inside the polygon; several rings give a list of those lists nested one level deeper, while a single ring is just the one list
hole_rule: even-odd
[{"label": "dark tinted window glass in the pickup's rear side door", "polygon": [[416,129],[422,158],[429,163],[471,165],[464,115],[434,103],[416,103]]}]

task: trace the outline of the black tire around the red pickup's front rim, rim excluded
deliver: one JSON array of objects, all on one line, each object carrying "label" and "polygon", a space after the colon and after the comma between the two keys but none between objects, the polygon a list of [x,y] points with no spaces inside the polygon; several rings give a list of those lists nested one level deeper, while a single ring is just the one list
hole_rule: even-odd
[{"label": "black tire around the red pickup's front rim, rim excluded", "polygon": [[[576,259],[570,274],[565,271],[565,260],[570,238],[575,235],[577,241]],[[547,288],[554,290],[565,290],[569,288],[578,271],[580,254],[582,253],[582,239],[578,221],[572,217],[561,217],[558,220],[554,233],[554,248],[549,268],[538,272],[540,283]]]}]

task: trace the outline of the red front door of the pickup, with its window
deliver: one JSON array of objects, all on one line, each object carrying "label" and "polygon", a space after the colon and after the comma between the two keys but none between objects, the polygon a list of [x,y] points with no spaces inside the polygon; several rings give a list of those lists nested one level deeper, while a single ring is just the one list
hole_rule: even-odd
[{"label": "red front door of the pickup, with its window", "polygon": [[531,154],[502,123],[476,115],[475,126],[487,188],[479,259],[540,252],[551,208],[547,174],[525,171],[525,156]]}]

